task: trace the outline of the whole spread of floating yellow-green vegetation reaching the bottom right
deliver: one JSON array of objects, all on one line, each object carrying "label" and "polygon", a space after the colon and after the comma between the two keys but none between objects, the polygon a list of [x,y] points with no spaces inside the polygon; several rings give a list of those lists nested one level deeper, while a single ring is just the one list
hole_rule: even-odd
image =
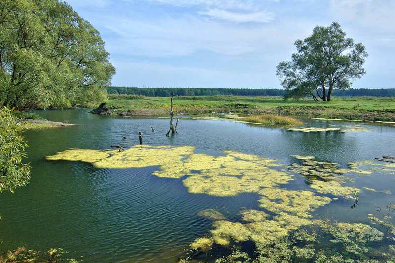
[{"label": "whole spread of floating yellow-green vegetation reaching the bottom right", "polygon": [[[193,250],[208,253],[214,245],[229,246],[245,241],[252,241],[256,246],[254,260],[242,250],[234,250],[234,253],[217,262],[290,262],[296,259],[344,262],[362,258],[371,242],[379,242],[384,238],[383,232],[366,224],[328,224],[312,218],[313,211],[329,204],[332,199],[357,198],[360,190],[345,185],[347,178],[344,175],[372,172],[360,169],[362,164],[352,163],[348,168],[340,168],[336,163],[316,161],[314,156],[294,155],[298,162],[289,166],[289,171],[306,178],[309,188],[290,190],[281,187],[293,180],[294,176],[284,171],[276,160],[235,151],[224,151],[219,156],[212,156],[196,154],[194,150],[190,146],[148,145],[132,146],[123,152],[70,149],[46,159],[83,161],[97,168],[155,166],[158,170],[153,175],[182,178],[190,193],[220,197],[240,193],[257,194],[258,205],[262,210],[241,210],[242,221],[228,221],[216,209],[198,213],[212,220],[213,224],[209,236],[197,238],[190,244]],[[364,190],[374,189],[365,187]],[[378,225],[389,226],[384,219],[373,215],[369,218]],[[316,252],[316,242],[324,238],[313,231],[317,227],[329,235],[331,249]],[[391,227],[390,233],[394,231],[395,234],[395,228]],[[339,247],[342,249],[336,254],[336,248]]]}]

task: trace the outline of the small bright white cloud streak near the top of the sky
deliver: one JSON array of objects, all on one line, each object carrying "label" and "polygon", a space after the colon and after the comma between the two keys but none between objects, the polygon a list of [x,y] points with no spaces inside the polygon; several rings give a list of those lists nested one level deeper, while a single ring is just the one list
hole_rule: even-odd
[{"label": "small bright white cloud streak near the top of the sky", "polygon": [[233,21],[237,23],[257,22],[268,23],[273,21],[275,14],[273,12],[253,12],[253,13],[236,13],[222,9],[208,9],[207,11],[199,12],[201,15],[206,15],[215,19],[222,19]]}]

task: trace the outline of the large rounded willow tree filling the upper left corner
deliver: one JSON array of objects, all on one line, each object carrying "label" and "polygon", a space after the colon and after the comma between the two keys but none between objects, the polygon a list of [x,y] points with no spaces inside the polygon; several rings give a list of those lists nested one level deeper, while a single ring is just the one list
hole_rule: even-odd
[{"label": "large rounded willow tree filling the upper left corner", "polygon": [[102,101],[114,67],[99,32],[65,2],[0,1],[0,105]]}]

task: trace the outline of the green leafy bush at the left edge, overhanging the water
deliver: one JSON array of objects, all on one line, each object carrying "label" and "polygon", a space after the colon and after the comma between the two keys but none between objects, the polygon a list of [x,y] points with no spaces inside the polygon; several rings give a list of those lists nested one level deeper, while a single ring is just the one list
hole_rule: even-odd
[{"label": "green leafy bush at the left edge, overhanging the water", "polygon": [[30,178],[30,166],[22,163],[27,144],[20,135],[22,127],[11,111],[0,109],[0,192],[14,192]]}]

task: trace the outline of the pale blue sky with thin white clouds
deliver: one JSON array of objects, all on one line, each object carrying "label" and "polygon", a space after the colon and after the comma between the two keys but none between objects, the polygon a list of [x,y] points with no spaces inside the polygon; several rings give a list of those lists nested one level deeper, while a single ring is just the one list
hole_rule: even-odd
[{"label": "pale blue sky with thin white clouds", "polygon": [[365,45],[353,88],[395,88],[395,0],[66,0],[106,42],[114,86],[281,88],[280,61],[333,21]]}]

